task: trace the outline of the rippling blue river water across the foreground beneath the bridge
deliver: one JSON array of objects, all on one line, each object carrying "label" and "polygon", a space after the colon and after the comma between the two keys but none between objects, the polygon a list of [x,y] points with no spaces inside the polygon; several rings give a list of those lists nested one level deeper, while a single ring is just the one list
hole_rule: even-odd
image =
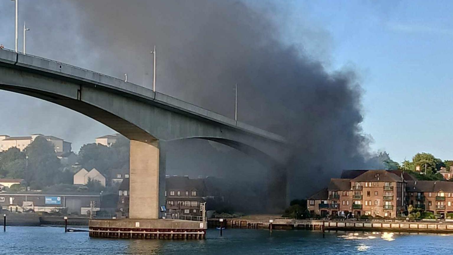
[{"label": "rippling blue river water across the foreground beneath the bridge", "polygon": [[258,255],[258,254],[450,254],[453,235],[382,232],[226,229],[208,230],[206,240],[127,240],[90,238],[62,227],[8,227],[0,232],[7,255]]}]

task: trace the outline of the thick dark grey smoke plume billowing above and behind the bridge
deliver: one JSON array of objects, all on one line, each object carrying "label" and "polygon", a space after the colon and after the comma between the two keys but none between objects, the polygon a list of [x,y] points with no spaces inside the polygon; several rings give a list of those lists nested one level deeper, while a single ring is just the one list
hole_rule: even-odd
[{"label": "thick dark grey smoke plume billowing above and behind the bridge", "polygon": [[[130,82],[150,87],[155,44],[160,92],[230,117],[237,83],[239,120],[294,142],[287,163],[292,197],[309,195],[344,168],[366,167],[370,139],[360,127],[356,74],[328,73],[299,44],[283,41],[278,13],[235,0],[22,0],[21,6],[34,33],[31,54],[118,78],[127,73]],[[2,15],[11,18],[3,9]],[[193,147],[206,153],[193,158]],[[189,165],[203,175],[265,176],[259,162],[212,151],[205,141],[173,144],[168,164],[169,174]]]}]

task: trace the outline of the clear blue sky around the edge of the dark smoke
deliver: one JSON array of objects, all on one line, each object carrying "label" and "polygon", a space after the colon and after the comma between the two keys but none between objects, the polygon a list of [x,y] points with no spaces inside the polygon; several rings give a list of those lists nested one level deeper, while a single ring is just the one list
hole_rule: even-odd
[{"label": "clear blue sky around the edge of the dark smoke", "polygon": [[[262,0],[248,0],[248,3],[268,11],[282,30],[285,42],[299,46],[314,59],[321,59],[329,71],[355,70],[363,88],[363,132],[373,137],[372,150],[385,150],[398,162],[417,152],[453,159],[453,148],[449,147],[453,142],[449,127],[453,120],[453,105],[449,103],[453,96],[452,1],[279,0],[263,5]],[[0,43],[11,44],[14,7],[13,4],[3,7],[0,6],[3,24]],[[33,36],[34,31],[31,32]],[[33,45],[30,50],[33,52]],[[23,96],[12,94],[5,98],[10,101],[3,100],[0,107],[7,108],[23,100]],[[50,111],[47,104],[29,102],[36,107],[28,104],[16,110],[21,113],[31,106]],[[63,128],[52,131],[53,135],[72,137],[76,151],[94,137],[112,132],[67,109],[52,111],[70,115],[73,123],[86,127],[77,135],[74,130]],[[51,130],[58,125],[58,119],[47,119],[39,128],[27,126],[24,121],[16,124],[22,127],[0,123],[0,129],[10,135],[44,132],[37,129]]]}]

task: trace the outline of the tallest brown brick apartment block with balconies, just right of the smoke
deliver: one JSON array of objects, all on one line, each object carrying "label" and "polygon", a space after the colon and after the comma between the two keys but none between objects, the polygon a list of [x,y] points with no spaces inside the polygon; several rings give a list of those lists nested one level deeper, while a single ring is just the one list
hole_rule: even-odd
[{"label": "tallest brown brick apartment block with balconies, just right of the smoke", "polygon": [[[406,211],[406,183],[409,180],[413,178],[401,171],[343,171],[341,178],[331,179],[327,188],[328,203],[321,206],[322,213],[328,211],[332,216],[356,217],[398,216]],[[307,200],[311,214],[318,214],[313,210],[315,201],[313,196]]]}]

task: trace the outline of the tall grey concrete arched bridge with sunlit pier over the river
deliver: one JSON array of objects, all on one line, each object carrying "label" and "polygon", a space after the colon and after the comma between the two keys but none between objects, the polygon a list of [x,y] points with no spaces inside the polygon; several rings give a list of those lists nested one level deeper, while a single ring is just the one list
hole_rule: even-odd
[{"label": "tall grey concrete arched bridge with sunlit pier over the river", "polygon": [[[220,142],[274,167],[275,178],[286,182],[284,137],[136,84],[0,49],[0,89],[70,108],[129,138],[132,219],[159,218],[159,205],[165,202],[164,141]],[[285,188],[279,190],[275,196],[284,201]]]}]

